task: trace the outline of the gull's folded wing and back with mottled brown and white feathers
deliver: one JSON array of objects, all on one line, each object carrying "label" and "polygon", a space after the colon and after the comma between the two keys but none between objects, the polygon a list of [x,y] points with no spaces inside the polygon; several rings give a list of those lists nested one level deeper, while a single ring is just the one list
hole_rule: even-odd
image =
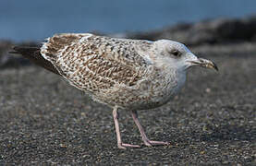
[{"label": "gull's folded wing and back with mottled brown and white feathers", "polygon": [[136,85],[149,65],[138,49],[149,49],[151,44],[68,33],[49,38],[41,53],[72,85],[95,93],[112,89],[116,84]]}]

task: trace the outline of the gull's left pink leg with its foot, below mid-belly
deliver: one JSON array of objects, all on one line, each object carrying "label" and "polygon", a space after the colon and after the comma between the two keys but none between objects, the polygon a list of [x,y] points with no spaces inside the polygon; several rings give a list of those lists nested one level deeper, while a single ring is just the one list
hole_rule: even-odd
[{"label": "gull's left pink leg with its foot, below mid-belly", "polygon": [[118,148],[140,148],[139,145],[131,145],[131,144],[124,144],[122,143],[121,135],[120,135],[120,129],[119,129],[119,124],[118,124],[118,113],[117,113],[118,108],[115,107],[113,110],[113,118],[116,126],[116,138],[117,138],[117,147]]}]

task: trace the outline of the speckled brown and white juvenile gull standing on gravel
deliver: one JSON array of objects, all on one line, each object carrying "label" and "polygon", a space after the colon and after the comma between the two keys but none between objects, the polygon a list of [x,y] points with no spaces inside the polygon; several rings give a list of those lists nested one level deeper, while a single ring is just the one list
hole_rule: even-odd
[{"label": "speckled brown and white juvenile gull standing on gravel", "polygon": [[47,39],[42,47],[15,47],[37,65],[67,79],[94,101],[113,108],[118,148],[140,148],[122,142],[118,109],[131,113],[146,146],[167,145],[150,140],[137,111],[164,105],[184,85],[190,66],[217,70],[213,62],[198,58],[177,41],[129,40],[66,33]]}]

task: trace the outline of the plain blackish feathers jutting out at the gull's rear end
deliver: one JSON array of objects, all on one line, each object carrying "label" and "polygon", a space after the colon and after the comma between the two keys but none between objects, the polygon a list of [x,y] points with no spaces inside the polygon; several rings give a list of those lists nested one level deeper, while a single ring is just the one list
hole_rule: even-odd
[{"label": "plain blackish feathers jutting out at the gull's rear end", "polygon": [[21,54],[23,57],[29,59],[34,64],[40,65],[43,68],[59,75],[55,66],[50,61],[47,61],[43,58],[42,54],[40,53],[40,47],[15,46],[13,50],[14,51],[10,53]]}]

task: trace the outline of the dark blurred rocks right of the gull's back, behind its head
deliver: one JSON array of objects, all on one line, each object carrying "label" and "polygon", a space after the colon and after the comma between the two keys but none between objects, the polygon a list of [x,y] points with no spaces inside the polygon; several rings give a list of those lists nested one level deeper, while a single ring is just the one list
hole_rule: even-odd
[{"label": "dark blurred rocks right of the gull's back, behind its head", "polygon": [[217,18],[198,23],[181,23],[163,30],[130,33],[128,38],[180,41],[189,46],[256,41],[256,17]]}]

